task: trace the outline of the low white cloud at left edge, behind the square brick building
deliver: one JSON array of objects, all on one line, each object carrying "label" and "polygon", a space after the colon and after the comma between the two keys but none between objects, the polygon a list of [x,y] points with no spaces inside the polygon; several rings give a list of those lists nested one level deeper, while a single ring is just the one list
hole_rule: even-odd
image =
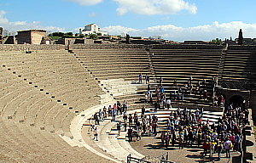
[{"label": "low white cloud at left edge, behind the square brick building", "polygon": [[39,25],[39,21],[33,21],[32,23],[27,23],[27,21],[15,21],[11,22],[8,19],[4,18],[5,11],[0,11],[0,25],[4,30],[8,31],[20,31],[20,30],[28,30],[28,29],[39,29],[46,31],[65,31],[65,28],[60,28],[56,26],[42,26]]}]

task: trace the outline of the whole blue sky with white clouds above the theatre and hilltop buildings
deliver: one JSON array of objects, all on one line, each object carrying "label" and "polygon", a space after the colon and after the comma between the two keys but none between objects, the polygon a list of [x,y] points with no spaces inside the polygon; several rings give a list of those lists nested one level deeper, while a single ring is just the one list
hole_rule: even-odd
[{"label": "whole blue sky with white clouds above the theatre and hilltop buildings", "polygon": [[15,33],[73,31],[96,23],[111,35],[183,42],[256,37],[255,0],[0,0],[0,26]]}]

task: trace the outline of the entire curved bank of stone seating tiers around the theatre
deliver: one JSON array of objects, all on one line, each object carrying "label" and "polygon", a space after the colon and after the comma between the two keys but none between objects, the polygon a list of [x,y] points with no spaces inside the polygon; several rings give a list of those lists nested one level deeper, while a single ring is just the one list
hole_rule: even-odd
[{"label": "entire curved bank of stone seating tiers around the theatre", "polygon": [[[230,80],[228,72],[235,70],[235,65],[230,68],[224,62],[228,53],[213,48],[153,48],[153,57],[143,48],[0,53],[0,148],[5,162],[113,162],[111,155],[96,157],[92,150],[63,140],[76,137],[74,119],[84,113],[90,116],[92,108],[97,110],[99,104],[102,107],[117,100],[128,100],[130,110],[148,106],[142,100],[148,86],[145,82],[138,84],[140,73],[151,76],[152,92],[163,77],[166,93],[171,93],[176,89],[172,86],[174,80],[183,87],[190,75],[196,83],[210,81],[219,72],[223,72],[221,80]],[[243,66],[251,70],[241,63]],[[211,96],[210,82],[207,90]],[[184,103],[195,107],[211,105],[211,101],[201,100],[195,93],[188,93]]]}]

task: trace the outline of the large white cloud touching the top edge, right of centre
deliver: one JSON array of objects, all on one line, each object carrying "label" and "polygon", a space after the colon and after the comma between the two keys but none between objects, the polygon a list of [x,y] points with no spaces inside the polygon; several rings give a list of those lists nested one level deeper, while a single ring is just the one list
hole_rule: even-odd
[{"label": "large white cloud touching the top edge, right of centre", "polygon": [[176,14],[182,10],[188,10],[190,14],[195,14],[197,7],[183,0],[113,0],[119,4],[116,9],[118,15],[127,12],[134,14]]}]

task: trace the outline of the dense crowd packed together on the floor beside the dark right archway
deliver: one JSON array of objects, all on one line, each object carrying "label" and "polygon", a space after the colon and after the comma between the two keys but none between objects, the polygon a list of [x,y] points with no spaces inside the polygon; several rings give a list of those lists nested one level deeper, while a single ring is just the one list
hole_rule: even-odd
[{"label": "dense crowd packed together on the floor beside the dark right archway", "polygon": [[172,111],[166,131],[162,131],[160,139],[166,148],[170,144],[179,149],[197,146],[204,151],[202,155],[210,157],[225,153],[230,158],[230,149],[241,151],[241,130],[248,123],[248,111],[242,107],[232,108],[224,111],[224,116],[219,117],[217,122],[210,123],[201,121],[203,110],[180,110]]}]

